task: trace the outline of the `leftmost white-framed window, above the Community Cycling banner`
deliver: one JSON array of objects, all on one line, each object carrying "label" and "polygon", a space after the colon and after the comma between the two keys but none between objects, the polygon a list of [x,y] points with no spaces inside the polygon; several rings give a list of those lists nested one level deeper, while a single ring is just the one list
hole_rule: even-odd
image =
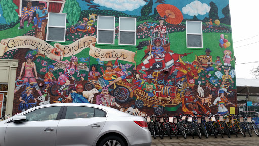
[{"label": "leftmost white-framed window, above the Community Cycling banner", "polygon": [[48,13],[46,41],[65,42],[66,13]]}]

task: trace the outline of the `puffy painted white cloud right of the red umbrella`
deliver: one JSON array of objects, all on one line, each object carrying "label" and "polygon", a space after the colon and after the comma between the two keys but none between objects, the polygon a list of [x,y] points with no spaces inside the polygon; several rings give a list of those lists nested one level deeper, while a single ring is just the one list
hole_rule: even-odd
[{"label": "puffy painted white cloud right of the red umbrella", "polygon": [[[96,0],[95,0],[96,1]],[[184,14],[188,14],[190,16],[194,15],[205,15],[210,10],[210,6],[206,3],[201,3],[200,1],[193,1],[190,4],[187,4],[182,8],[182,12]]]}]

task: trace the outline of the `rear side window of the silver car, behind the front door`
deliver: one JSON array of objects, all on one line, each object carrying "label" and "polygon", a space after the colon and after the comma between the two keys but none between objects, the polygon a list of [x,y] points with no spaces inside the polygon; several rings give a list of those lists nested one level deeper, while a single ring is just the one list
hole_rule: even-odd
[{"label": "rear side window of the silver car, behind the front door", "polygon": [[105,117],[106,112],[101,109],[82,106],[68,106],[65,119]]}]

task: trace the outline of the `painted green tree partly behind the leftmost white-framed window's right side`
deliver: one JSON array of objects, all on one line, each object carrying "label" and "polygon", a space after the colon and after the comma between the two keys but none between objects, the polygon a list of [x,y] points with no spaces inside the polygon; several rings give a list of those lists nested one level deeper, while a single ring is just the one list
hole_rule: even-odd
[{"label": "painted green tree partly behind the leftmost white-framed window's right side", "polygon": [[81,7],[76,0],[66,0],[63,13],[67,13],[67,21],[69,25],[76,24],[80,18]]}]

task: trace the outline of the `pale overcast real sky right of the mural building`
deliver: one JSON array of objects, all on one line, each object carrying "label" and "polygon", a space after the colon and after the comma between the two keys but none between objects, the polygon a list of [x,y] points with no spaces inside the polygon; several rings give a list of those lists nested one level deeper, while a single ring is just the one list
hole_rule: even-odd
[{"label": "pale overcast real sky right of the mural building", "polygon": [[250,70],[259,65],[259,63],[247,63],[259,61],[258,6],[258,0],[229,0],[233,47],[236,56],[236,78],[254,78]]}]

